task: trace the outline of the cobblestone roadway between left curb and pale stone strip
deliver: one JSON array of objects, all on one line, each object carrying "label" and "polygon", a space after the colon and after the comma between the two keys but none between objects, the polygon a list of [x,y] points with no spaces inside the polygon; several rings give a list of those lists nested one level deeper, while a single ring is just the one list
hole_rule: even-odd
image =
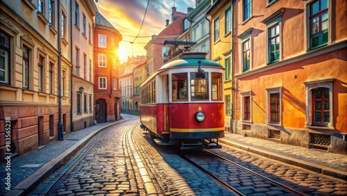
[{"label": "cobblestone roadway between left curb and pale stone strip", "polygon": [[[47,195],[145,195],[137,186],[142,179],[124,138],[132,124],[130,120],[100,133],[57,183],[49,182],[55,184]],[[41,194],[39,187],[31,195]]]}]

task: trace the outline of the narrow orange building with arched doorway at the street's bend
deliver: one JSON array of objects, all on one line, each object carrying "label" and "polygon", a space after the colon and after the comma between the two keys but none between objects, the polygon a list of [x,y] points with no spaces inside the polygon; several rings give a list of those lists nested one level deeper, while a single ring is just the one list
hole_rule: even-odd
[{"label": "narrow orange building with arched doorway at the street's bend", "polygon": [[94,120],[115,122],[121,119],[119,57],[122,36],[100,13],[94,27]]}]

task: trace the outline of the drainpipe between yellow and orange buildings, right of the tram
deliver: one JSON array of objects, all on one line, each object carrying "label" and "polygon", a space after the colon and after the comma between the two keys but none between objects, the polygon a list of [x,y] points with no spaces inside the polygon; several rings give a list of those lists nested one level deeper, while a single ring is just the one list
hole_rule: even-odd
[{"label": "drainpipe between yellow and orange buildings, right of the tram", "polygon": [[230,115],[230,126],[231,126],[231,133],[233,133],[234,131],[232,131],[232,120],[234,119],[234,98],[235,98],[235,88],[234,88],[234,71],[235,71],[235,67],[234,67],[234,59],[235,59],[235,51],[234,51],[234,36],[235,36],[235,4],[234,4],[234,0],[232,0],[231,2],[231,6],[232,6],[232,13],[231,13],[231,56],[232,58],[231,60],[231,115]]}]

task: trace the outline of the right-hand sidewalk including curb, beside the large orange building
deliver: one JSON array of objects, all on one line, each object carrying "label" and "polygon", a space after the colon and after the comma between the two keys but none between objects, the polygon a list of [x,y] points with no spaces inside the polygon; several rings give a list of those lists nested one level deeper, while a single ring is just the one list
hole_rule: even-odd
[{"label": "right-hand sidewalk including curb, beside the large orange building", "polygon": [[254,154],[347,181],[347,156],[225,133],[219,142]]}]

